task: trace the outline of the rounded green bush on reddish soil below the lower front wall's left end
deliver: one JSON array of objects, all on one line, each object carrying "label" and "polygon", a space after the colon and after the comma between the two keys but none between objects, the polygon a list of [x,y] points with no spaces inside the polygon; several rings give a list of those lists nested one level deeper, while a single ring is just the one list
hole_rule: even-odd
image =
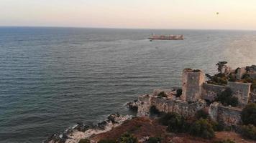
[{"label": "rounded green bush on reddish soil below the lower front wall's left end", "polygon": [[190,134],[204,139],[214,137],[214,129],[207,119],[199,119],[191,125]]}]

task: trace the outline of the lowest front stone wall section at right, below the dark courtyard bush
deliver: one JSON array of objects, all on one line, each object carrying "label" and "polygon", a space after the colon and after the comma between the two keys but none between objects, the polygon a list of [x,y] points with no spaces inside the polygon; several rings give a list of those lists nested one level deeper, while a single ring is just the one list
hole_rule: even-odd
[{"label": "lowest front stone wall section at right, below the dark courtyard bush", "polygon": [[216,122],[222,122],[226,126],[237,126],[242,123],[242,109],[235,107],[224,107],[218,102],[211,104],[209,114]]}]

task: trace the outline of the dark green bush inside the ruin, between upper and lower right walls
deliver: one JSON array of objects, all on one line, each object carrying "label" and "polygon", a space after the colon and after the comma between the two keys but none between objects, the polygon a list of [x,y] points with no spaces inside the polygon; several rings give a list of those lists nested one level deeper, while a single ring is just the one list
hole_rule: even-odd
[{"label": "dark green bush inside the ruin, between upper and lower right walls", "polygon": [[232,107],[237,107],[238,105],[238,99],[232,96],[232,90],[230,88],[226,88],[224,92],[218,94],[216,100],[224,106],[231,105]]}]

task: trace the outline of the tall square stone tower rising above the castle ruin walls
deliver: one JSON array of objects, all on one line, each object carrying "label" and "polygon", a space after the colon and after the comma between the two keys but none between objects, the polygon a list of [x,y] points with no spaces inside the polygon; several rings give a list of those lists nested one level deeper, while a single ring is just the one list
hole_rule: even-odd
[{"label": "tall square stone tower rising above the castle ruin walls", "polygon": [[182,74],[181,99],[186,102],[195,102],[201,98],[204,73],[200,70],[184,69]]}]

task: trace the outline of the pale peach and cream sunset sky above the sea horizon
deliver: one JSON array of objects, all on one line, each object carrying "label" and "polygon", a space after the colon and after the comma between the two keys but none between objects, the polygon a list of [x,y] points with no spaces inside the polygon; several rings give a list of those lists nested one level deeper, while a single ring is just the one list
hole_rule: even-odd
[{"label": "pale peach and cream sunset sky above the sea horizon", "polygon": [[0,26],[256,30],[256,0],[1,0]]}]

